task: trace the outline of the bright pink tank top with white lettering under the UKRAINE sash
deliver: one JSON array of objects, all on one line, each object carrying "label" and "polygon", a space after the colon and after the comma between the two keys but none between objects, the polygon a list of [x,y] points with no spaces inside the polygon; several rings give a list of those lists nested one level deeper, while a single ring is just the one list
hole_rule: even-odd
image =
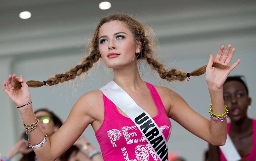
[{"label": "bright pink tank top with white lettering under the UKRAINE sash", "polygon": [[[172,131],[171,122],[155,87],[150,83],[146,82],[146,84],[157,107],[157,115],[153,120],[168,141]],[[104,120],[99,130],[95,132],[103,159],[108,161],[159,160],[134,122],[119,113],[114,103],[104,94],[103,100]]]}]

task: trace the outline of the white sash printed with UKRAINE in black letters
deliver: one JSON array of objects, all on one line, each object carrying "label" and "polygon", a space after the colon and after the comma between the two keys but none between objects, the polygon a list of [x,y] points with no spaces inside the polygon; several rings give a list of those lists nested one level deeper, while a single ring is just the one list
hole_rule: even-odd
[{"label": "white sash printed with UKRAINE in black letters", "polygon": [[102,93],[129,116],[161,161],[168,161],[165,137],[155,121],[114,81],[101,87]]}]

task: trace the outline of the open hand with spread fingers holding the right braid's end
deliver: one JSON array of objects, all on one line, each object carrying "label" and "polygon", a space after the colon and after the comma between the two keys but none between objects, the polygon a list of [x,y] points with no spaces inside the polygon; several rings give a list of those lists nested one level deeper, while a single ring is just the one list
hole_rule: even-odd
[{"label": "open hand with spread fingers holding the right braid's end", "polygon": [[[205,73],[205,79],[208,85],[209,91],[212,92],[222,92],[222,86],[227,79],[229,73],[239,64],[240,59],[238,59],[234,64],[230,65],[230,62],[232,60],[232,57],[235,52],[235,48],[232,48],[231,51],[231,44],[228,44],[225,52],[224,51],[224,45],[220,47],[220,50],[218,51],[216,57],[212,54],[210,54],[210,59],[206,67],[206,73]],[[230,51],[230,54],[229,54]],[[213,67],[212,64],[220,63],[222,65],[229,66],[228,68],[218,68],[218,67]]]}]

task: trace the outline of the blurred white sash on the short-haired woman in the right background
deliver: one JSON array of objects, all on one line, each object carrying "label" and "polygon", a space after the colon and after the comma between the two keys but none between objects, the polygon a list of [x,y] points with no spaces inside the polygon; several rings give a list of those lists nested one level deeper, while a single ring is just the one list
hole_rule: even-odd
[{"label": "blurred white sash on the short-haired woman in the right background", "polygon": [[232,140],[229,135],[227,137],[226,143],[223,146],[219,146],[221,152],[227,159],[227,161],[238,161],[241,160],[241,156],[239,155],[236,147],[234,146]]}]

